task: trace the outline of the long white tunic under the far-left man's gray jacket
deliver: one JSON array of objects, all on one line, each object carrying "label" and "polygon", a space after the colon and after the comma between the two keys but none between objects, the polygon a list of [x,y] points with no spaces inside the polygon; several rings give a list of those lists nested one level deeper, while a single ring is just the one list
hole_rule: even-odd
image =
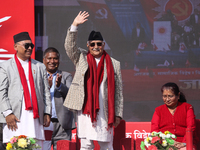
[{"label": "long white tunic under the far-left man's gray jacket", "polygon": [[[18,58],[19,59],[19,58]],[[26,76],[26,81],[29,88],[29,93],[31,95],[30,83],[28,79],[28,60],[19,59],[24,73]],[[25,110],[25,101],[24,97],[22,100],[22,109],[21,109],[21,118],[20,122],[17,122],[18,129],[16,131],[9,130],[7,124],[3,124],[3,143],[7,143],[13,136],[26,135],[28,137],[35,138],[37,140],[44,140],[44,130],[43,125],[39,123],[39,119],[33,118],[33,110]],[[19,119],[19,118],[18,118]]]}]

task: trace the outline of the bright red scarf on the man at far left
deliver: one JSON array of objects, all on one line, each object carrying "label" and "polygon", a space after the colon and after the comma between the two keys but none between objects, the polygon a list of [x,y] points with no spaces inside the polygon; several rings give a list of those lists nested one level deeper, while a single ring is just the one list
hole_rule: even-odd
[{"label": "bright red scarf on the man at far left", "polygon": [[[25,100],[25,107],[26,107],[25,110],[32,110],[31,98],[30,98],[30,93],[29,93],[24,69],[22,68],[22,65],[19,62],[16,54],[15,54],[15,61],[17,64],[19,76],[20,76],[21,83],[22,83],[23,90],[24,90],[24,100]],[[35,93],[35,85],[34,85],[33,75],[32,75],[32,70],[31,70],[31,58],[29,58],[28,64],[29,64],[29,70],[28,70],[29,83],[30,83],[30,87],[31,87],[31,97],[32,97],[32,105],[33,105],[33,115],[34,115],[33,118],[39,118],[37,97],[36,97],[36,93]]]}]

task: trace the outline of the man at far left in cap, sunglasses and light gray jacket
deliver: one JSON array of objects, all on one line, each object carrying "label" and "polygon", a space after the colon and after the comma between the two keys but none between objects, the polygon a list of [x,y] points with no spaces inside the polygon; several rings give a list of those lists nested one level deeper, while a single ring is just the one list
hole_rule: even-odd
[{"label": "man at far left in cap, sunglasses and light gray jacket", "polygon": [[34,44],[28,32],[13,36],[16,54],[0,65],[0,122],[3,142],[26,135],[42,146],[43,126],[50,124],[51,99],[44,64],[31,59]]}]

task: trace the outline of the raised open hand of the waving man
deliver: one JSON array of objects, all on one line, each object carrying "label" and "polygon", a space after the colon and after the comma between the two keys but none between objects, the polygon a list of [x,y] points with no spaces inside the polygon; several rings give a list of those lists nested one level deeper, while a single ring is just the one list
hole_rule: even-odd
[{"label": "raised open hand of the waving man", "polygon": [[84,12],[82,12],[82,11],[80,11],[79,13],[78,13],[78,15],[76,16],[76,18],[74,19],[74,22],[72,23],[72,25],[74,25],[74,26],[78,26],[78,25],[80,25],[80,24],[83,24],[84,22],[86,22],[89,17],[89,13],[88,12],[86,12],[86,11],[84,11]]}]

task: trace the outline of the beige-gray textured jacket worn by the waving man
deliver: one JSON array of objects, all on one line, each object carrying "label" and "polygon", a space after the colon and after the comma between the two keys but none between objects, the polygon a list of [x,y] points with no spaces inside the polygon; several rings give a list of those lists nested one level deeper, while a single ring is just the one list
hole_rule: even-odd
[{"label": "beige-gray textured jacket worn by the waving man", "polygon": [[[85,92],[84,92],[84,78],[86,71],[88,69],[87,63],[87,51],[78,48],[76,45],[77,32],[70,32],[68,30],[67,37],[65,39],[65,49],[69,58],[72,60],[76,66],[76,72],[70,86],[69,92],[64,102],[64,106],[81,110],[84,103]],[[114,76],[115,76],[115,115],[122,118],[123,114],[123,95],[122,95],[122,77],[120,70],[120,62],[111,58]],[[103,76],[103,86],[104,86],[104,110],[106,120],[108,116],[108,98],[107,98],[107,71],[106,62],[104,61],[104,76]]]}]

